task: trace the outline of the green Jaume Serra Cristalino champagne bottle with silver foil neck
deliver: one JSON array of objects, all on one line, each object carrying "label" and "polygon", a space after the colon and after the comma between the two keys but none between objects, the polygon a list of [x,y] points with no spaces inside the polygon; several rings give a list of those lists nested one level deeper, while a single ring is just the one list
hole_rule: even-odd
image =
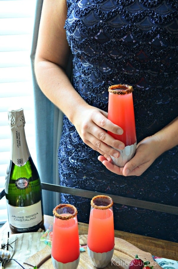
[{"label": "green Jaume Serra Cristalino champagne bottle with silver foil neck", "polygon": [[25,136],[23,109],[8,112],[12,153],[5,180],[9,227],[14,233],[43,227],[42,187]]}]

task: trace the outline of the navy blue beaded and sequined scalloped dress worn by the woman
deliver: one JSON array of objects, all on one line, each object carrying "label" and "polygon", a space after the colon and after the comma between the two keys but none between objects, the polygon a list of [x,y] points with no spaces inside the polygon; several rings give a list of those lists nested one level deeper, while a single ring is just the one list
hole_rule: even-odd
[{"label": "navy blue beaded and sequined scalloped dress worn by the woman", "polygon": [[[134,88],[137,143],[177,117],[176,0],[67,0],[65,24],[74,55],[73,85],[88,104],[107,111],[108,87]],[[64,116],[58,152],[61,185],[178,205],[178,147],[139,177],[118,176],[98,161]],[[88,222],[90,199],[61,196]],[[178,217],[114,205],[115,229],[178,241]]]}]

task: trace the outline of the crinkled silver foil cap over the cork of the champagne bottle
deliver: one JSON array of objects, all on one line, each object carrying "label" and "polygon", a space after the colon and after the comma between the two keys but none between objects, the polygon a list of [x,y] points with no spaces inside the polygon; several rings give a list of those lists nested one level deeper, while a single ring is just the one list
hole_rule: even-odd
[{"label": "crinkled silver foil cap over the cork of the champagne bottle", "polygon": [[11,128],[18,127],[21,125],[25,126],[25,117],[23,113],[23,108],[17,110],[9,110],[8,120],[9,120],[9,126]]}]

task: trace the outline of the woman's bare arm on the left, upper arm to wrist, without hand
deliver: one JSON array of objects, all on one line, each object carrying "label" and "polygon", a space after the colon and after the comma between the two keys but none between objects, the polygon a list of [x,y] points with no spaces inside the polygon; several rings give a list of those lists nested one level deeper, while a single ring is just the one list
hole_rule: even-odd
[{"label": "woman's bare arm on the left, upper arm to wrist, without hand", "polygon": [[34,67],[42,92],[73,122],[75,108],[80,110],[87,104],[64,71],[70,53],[64,29],[66,16],[66,0],[43,1]]}]

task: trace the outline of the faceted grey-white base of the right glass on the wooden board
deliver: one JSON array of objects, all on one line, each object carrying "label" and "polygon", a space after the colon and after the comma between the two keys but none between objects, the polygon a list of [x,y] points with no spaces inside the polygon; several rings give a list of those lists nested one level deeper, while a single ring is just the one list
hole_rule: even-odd
[{"label": "faceted grey-white base of the right glass on the wooden board", "polygon": [[88,246],[87,246],[87,250],[88,250],[88,256],[90,258],[90,261],[96,268],[106,267],[111,261],[112,255],[114,252],[114,248],[113,248],[112,250],[108,252],[97,253],[90,250]]}]

